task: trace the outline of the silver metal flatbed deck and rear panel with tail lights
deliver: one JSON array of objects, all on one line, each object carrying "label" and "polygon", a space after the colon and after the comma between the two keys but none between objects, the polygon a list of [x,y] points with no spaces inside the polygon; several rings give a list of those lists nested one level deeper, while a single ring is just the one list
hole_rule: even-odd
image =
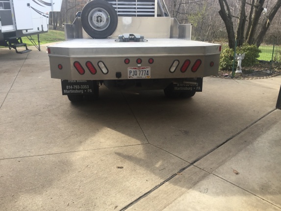
[{"label": "silver metal flatbed deck and rear panel with tail lights", "polygon": [[220,45],[181,39],[81,39],[48,48],[51,78],[68,80],[135,79],[133,69],[150,71],[138,79],[203,78],[218,73],[220,58]]}]

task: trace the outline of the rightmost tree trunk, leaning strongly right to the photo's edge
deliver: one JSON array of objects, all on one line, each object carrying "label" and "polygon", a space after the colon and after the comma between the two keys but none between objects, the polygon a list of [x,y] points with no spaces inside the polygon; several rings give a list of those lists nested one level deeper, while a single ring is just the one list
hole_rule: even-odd
[{"label": "rightmost tree trunk, leaning strongly right to the photo's edge", "polygon": [[256,38],[255,44],[256,44],[257,47],[260,46],[260,44],[263,40],[263,37],[264,37],[267,29],[270,26],[271,21],[273,20],[274,16],[276,15],[276,13],[277,13],[277,11],[279,10],[280,7],[281,7],[281,0],[277,0],[275,2],[275,4],[273,5],[273,7],[270,9],[268,15],[266,15],[267,18],[264,20],[261,31],[259,32],[259,34]]}]

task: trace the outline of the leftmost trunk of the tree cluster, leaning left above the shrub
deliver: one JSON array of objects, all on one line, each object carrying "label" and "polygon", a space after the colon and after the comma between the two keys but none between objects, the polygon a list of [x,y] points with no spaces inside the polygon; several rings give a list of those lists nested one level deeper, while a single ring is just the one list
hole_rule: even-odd
[{"label": "leftmost trunk of the tree cluster, leaning left above the shrub", "polygon": [[[220,3],[220,7],[221,7],[219,14],[226,25],[228,39],[229,39],[229,47],[230,47],[230,49],[234,49],[235,35],[234,35],[233,22],[232,22],[231,13],[230,13],[230,7],[226,0],[219,0],[219,3]],[[226,5],[228,12],[226,12],[224,4]]]}]

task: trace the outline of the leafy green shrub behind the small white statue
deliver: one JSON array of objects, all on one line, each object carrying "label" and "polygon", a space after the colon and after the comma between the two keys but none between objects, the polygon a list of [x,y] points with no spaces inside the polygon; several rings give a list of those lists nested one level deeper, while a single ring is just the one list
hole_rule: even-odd
[{"label": "leafy green shrub behind the small white statue", "polygon": [[[242,67],[246,67],[256,63],[256,58],[259,57],[261,51],[255,45],[245,43],[243,46],[236,48],[236,54],[243,53],[245,53],[245,57],[242,60]],[[233,56],[233,49],[226,48],[223,50],[220,57],[220,70],[232,70]],[[237,60],[235,60],[235,66],[237,66]]]}]

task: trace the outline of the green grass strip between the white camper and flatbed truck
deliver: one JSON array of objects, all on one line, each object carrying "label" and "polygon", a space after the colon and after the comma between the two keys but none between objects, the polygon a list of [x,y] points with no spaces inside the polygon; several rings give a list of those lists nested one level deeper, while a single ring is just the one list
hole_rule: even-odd
[{"label": "green grass strip between the white camper and flatbed truck", "polygon": [[[37,35],[32,35],[35,43],[38,45]],[[40,38],[40,45],[64,41],[64,31],[57,31],[57,30],[49,30],[47,33],[39,34]],[[33,44],[27,39],[27,37],[23,37],[23,43],[26,43],[27,46],[32,46]]]}]

